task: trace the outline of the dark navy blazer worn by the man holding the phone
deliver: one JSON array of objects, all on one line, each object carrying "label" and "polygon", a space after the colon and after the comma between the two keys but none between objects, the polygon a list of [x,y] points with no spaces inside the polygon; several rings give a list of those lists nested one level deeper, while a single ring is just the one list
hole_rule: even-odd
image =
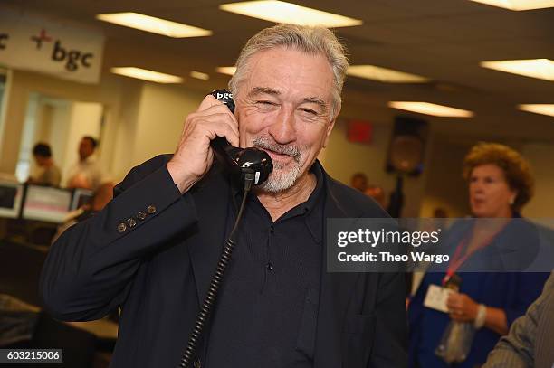
[{"label": "dark navy blazer worn by the man holding the phone", "polygon": [[[226,175],[213,167],[181,195],[169,158],[132,169],[106,208],[65,231],[44,264],[40,289],[53,316],[92,320],[121,306],[113,367],[177,366],[226,236]],[[386,216],[323,176],[324,218]],[[404,275],[327,273],[321,259],[314,367],[406,366]],[[201,344],[201,365],[204,354]]]}]

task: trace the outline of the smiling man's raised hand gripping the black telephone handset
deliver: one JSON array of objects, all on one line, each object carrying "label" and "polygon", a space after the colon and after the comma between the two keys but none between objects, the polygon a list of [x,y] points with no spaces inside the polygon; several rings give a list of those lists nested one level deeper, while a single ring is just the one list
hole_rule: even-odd
[{"label": "smiling man's raised hand gripping the black telephone handset", "polygon": [[212,95],[207,95],[196,110],[186,117],[185,127],[175,155],[167,163],[167,170],[181,193],[208,172],[214,160],[210,141],[226,137],[239,145],[238,124],[233,113]]}]

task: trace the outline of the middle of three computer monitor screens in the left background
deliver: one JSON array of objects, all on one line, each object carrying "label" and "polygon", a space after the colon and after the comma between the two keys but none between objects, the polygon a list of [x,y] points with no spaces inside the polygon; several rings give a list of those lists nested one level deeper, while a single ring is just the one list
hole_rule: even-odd
[{"label": "middle of three computer monitor screens in the left background", "polygon": [[27,185],[22,217],[25,220],[62,223],[72,203],[72,192],[49,186]]}]

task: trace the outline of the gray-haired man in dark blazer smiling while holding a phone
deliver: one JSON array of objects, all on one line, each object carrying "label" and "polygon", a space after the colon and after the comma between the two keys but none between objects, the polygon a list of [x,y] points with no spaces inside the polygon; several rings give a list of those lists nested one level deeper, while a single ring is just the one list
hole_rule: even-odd
[{"label": "gray-haired man in dark blazer smiling while holding a phone", "polygon": [[325,28],[277,25],[236,66],[234,114],[207,96],[173,156],[135,167],[103,211],[53,245],[45,306],[65,320],[120,306],[112,366],[177,366],[242,197],[214,163],[219,136],[265,151],[273,171],[245,202],[193,365],[405,366],[403,275],[326,272],[326,219],[386,216],[316,159],[340,110],[342,45]]}]

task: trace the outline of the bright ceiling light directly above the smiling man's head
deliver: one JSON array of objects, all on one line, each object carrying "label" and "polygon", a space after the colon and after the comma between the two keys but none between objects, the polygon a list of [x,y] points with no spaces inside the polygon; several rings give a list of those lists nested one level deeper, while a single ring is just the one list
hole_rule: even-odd
[{"label": "bright ceiling light directly above the smiling man's head", "polygon": [[276,0],[244,1],[219,5],[219,8],[227,12],[252,16],[281,24],[322,25],[333,28],[349,27],[363,23],[358,19],[349,18],[348,16],[327,13]]}]

